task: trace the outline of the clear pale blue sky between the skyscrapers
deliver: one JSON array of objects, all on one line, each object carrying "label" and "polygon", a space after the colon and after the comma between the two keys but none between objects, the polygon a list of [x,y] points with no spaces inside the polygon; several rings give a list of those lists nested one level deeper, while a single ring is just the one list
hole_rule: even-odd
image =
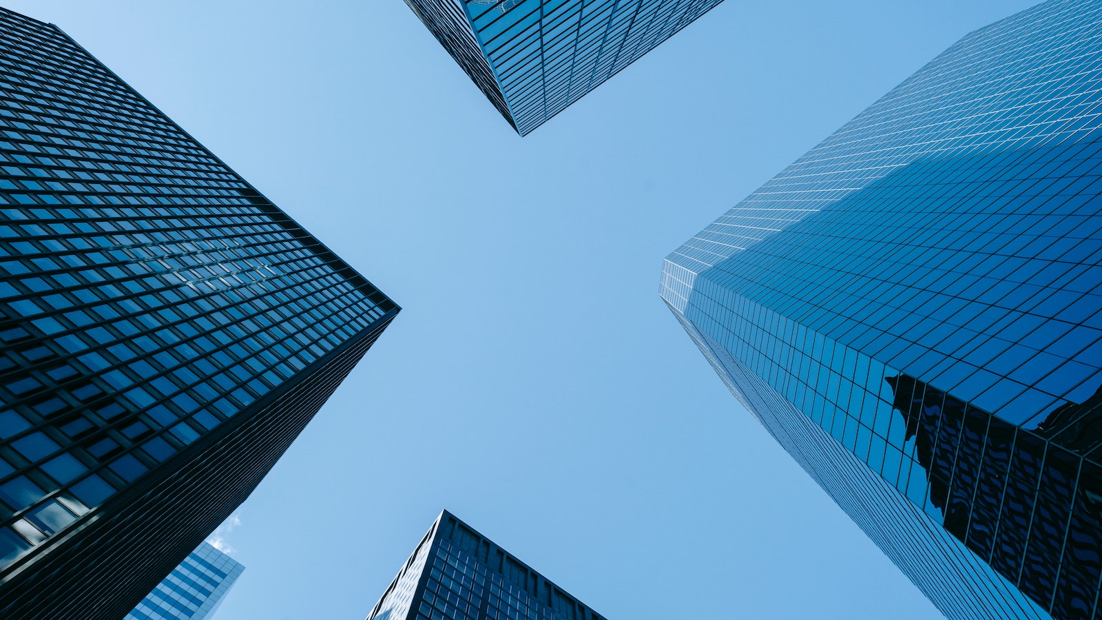
[{"label": "clear pale blue sky between the skyscrapers", "polygon": [[737,404],[661,259],[1030,0],[727,0],[519,138],[401,0],[2,0],[403,307],[225,538],[361,620],[442,507],[613,620],[938,618]]}]

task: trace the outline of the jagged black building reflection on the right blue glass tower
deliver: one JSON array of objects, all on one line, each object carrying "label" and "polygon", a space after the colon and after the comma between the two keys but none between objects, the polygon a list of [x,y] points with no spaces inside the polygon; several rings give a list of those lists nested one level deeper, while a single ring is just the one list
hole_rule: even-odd
[{"label": "jagged black building reflection on the right blue glass tower", "polygon": [[1036,431],[907,375],[886,377],[944,527],[1054,616],[1091,613],[1102,553],[1102,389]]}]

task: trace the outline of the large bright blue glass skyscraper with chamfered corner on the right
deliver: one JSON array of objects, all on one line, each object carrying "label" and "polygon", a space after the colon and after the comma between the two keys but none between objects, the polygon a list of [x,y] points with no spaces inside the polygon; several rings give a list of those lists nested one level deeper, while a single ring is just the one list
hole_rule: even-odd
[{"label": "large bright blue glass skyscraper with chamfered corner on the right", "polygon": [[738,399],[950,618],[1102,618],[1102,2],[980,29],[670,254]]}]

